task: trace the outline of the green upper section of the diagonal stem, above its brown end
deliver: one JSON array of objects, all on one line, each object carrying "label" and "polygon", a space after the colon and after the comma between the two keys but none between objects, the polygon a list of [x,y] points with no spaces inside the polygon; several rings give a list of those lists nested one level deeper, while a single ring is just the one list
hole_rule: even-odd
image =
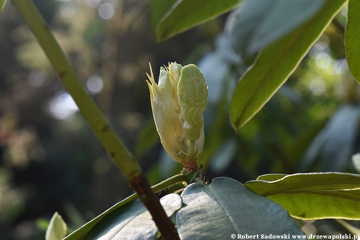
[{"label": "green upper section of the diagonal stem, above its brown end", "polygon": [[106,148],[118,168],[128,180],[137,177],[141,168],[125,145],[116,135],[105,116],[100,112],[92,97],[86,92],[81,80],[70,65],[65,53],[53,37],[48,25],[41,17],[30,0],[12,0],[18,12],[21,14],[55,71],[59,75],[62,84],[72,96],[83,118]]}]

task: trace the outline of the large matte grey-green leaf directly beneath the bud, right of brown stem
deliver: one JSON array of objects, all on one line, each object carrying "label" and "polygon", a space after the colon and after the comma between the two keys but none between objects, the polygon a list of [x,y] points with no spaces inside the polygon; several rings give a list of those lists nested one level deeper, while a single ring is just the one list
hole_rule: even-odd
[{"label": "large matte grey-green leaf directly beneath the bud, right of brown stem", "polygon": [[181,197],[184,206],[176,213],[181,239],[230,239],[231,234],[260,233],[304,235],[280,205],[232,178],[217,177],[209,185],[192,183]]}]

